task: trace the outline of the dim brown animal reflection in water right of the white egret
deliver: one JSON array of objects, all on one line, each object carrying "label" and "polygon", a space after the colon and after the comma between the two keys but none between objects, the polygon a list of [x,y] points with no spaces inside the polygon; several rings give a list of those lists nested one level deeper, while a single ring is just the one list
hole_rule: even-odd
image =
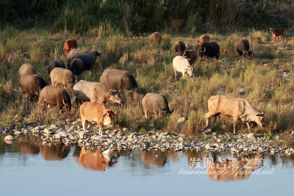
[{"label": "dim brown animal reflection in water right of the white egret", "polygon": [[[159,157],[155,157],[155,155],[159,155]],[[162,151],[148,151],[144,150],[142,152],[142,160],[144,161],[146,166],[157,165],[163,166],[166,164],[167,153]]]}]

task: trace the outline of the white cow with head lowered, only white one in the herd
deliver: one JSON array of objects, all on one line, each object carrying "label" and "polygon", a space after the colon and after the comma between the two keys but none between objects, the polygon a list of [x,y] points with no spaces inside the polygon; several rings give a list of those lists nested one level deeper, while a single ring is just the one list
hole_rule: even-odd
[{"label": "white cow with head lowered, only white one in the herd", "polygon": [[193,76],[193,71],[195,70],[194,66],[191,66],[189,63],[189,58],[182,56],[176,56],[173,58],[173,69],[175,70],[175,79],[177,81],[177,73],[181,72],[183,77],[188,73],[190,77]]}]

